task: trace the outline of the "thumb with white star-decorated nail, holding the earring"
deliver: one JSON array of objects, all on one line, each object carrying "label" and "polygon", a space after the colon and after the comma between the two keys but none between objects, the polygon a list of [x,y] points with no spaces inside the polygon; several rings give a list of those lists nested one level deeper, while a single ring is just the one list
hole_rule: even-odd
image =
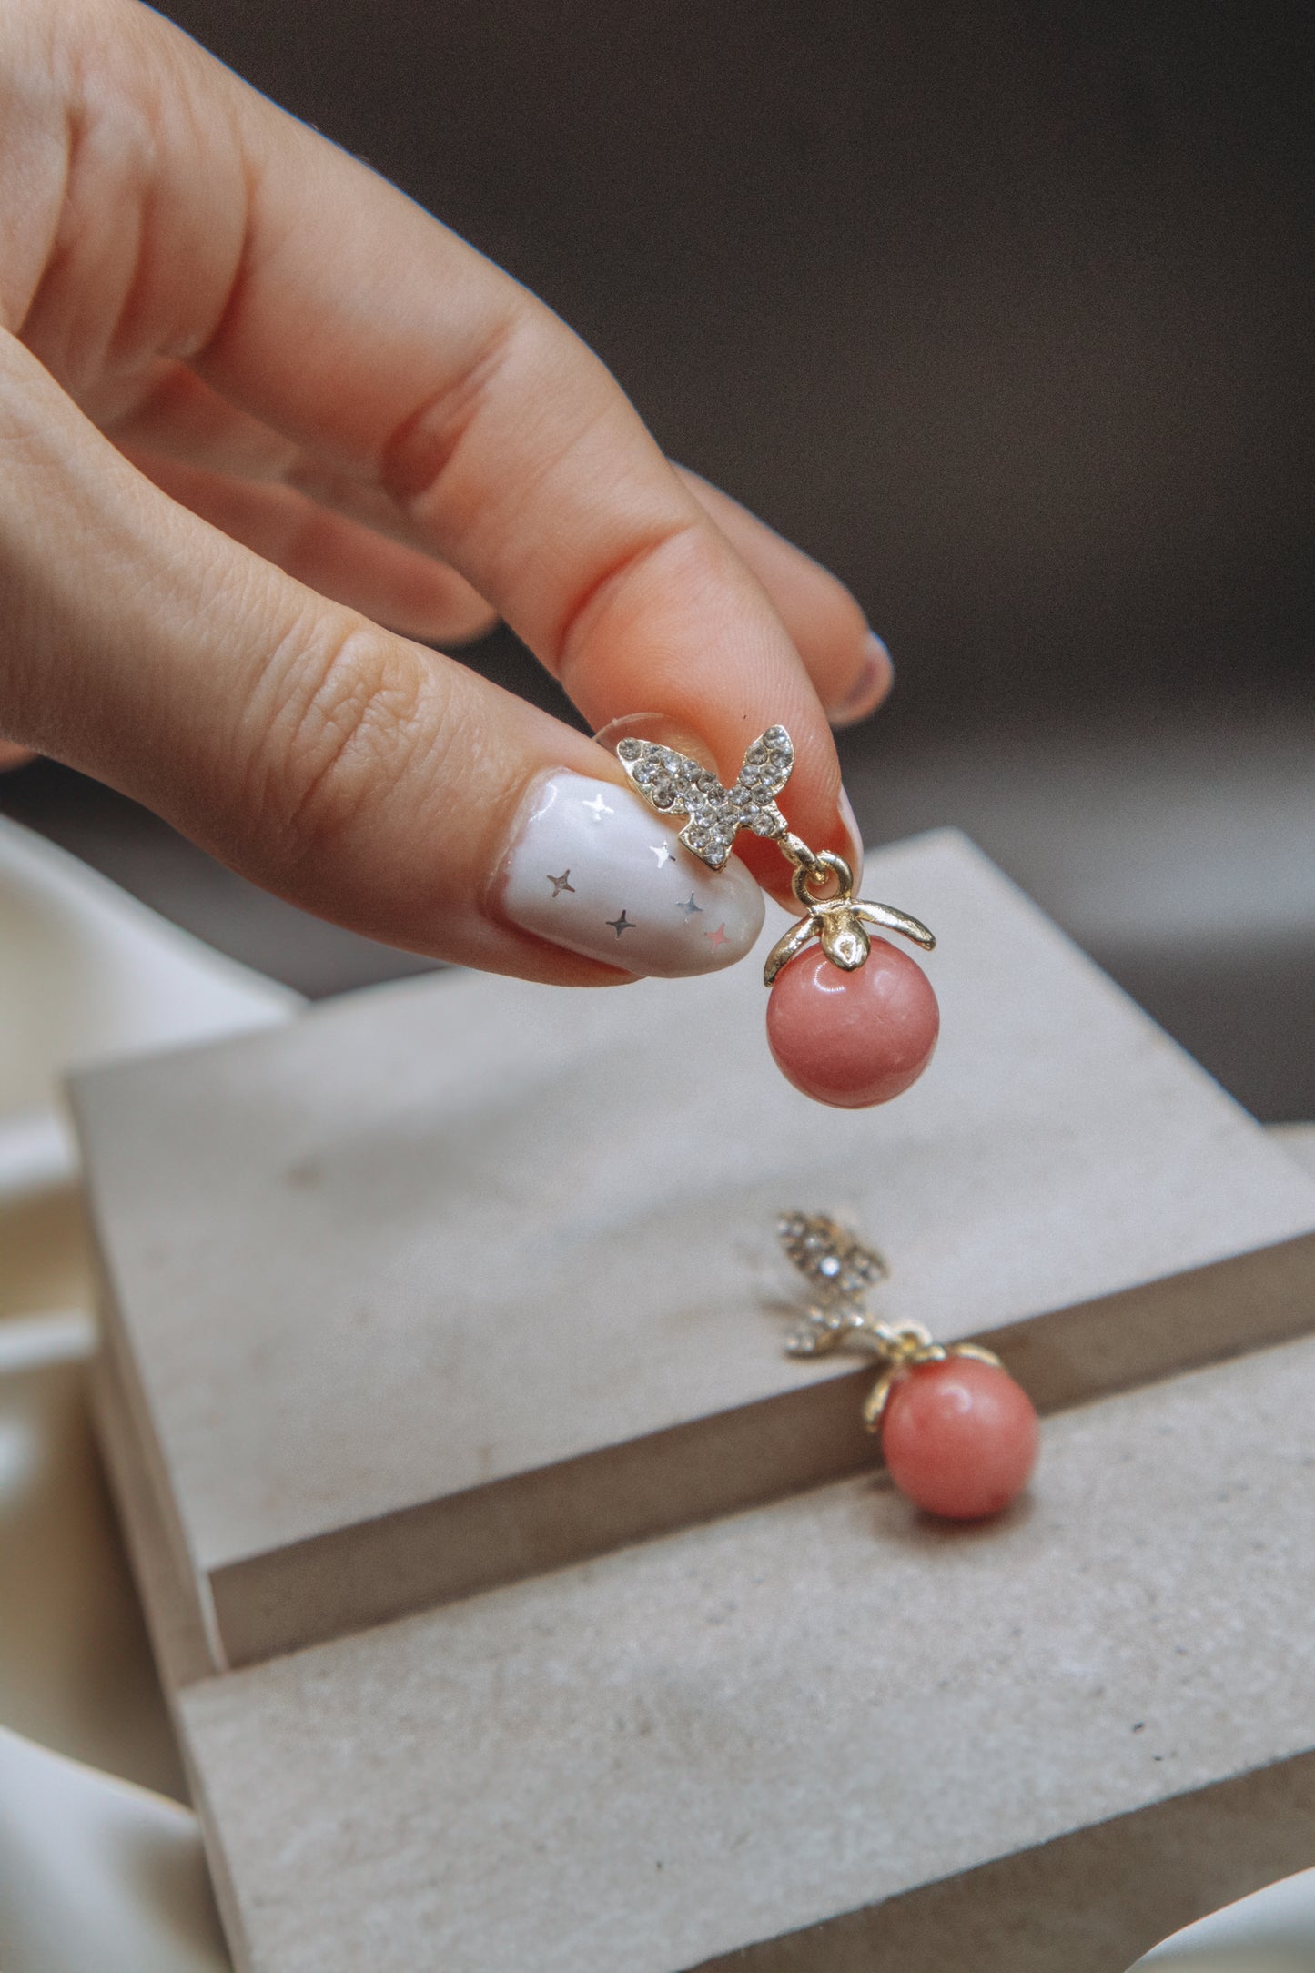
[{"label": "thumb with white star-decorated nail, holding the earring", "polygon": [[761,892],[615,760],[325,602],[140,475],[0,337],[0,734],[355,931],[526,979],[700,973]]}]

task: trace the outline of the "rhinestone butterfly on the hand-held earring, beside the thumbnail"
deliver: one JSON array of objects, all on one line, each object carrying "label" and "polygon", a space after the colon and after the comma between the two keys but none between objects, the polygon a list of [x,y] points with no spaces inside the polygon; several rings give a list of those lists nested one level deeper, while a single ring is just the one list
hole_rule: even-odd
[{"label": "rhinestone butterfly on the hand-held earring, beside the thumbnail", "polygon": [[680,840],[710,870],[724,868],[741,829],[751,829],[755,837],[789,835],[791,825],[775,801],[795,766],[785,726],[759,734],[733,787],[722,787],[710,767],[655,740],[623,740],[617,760],[649,807],[688,817]]}]

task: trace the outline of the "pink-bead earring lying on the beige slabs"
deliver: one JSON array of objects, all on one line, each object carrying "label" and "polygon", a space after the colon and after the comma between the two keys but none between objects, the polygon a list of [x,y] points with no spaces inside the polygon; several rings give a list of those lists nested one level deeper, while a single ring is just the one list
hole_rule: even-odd
[{"label": "pink-bead earring lying on the beige slabs", "polygon": [[834,1219],[783,1213],[777,1237],[812,1288],[791,1355],[858,1344],[881,1361],[864,1425],[881,1436],[899,1492],[950,1521],[980,1521],[1017,1499],[1037,1464],[1039,1425],[1000,1357],[980,1344],[936,1344],[919,1322],[893,1328],[869,1316],[864,1294],[889,1269]]}]

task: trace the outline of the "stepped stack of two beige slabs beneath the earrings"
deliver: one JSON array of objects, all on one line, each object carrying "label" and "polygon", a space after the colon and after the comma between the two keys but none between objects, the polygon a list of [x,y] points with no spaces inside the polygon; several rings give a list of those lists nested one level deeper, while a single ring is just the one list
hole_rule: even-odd
[{"label": "stepped stack of two beige slabs beneath the earrings", "polygon": [[[1118,1973],[1309,1863],[1315,1184],[962,839],[864,888],[942,935],[885,1111],[779,1081],[751,965],[79,1079],[242,1973]],[[871,1365],[781,1353],[795,1206],[1051,1411],[1000,1521],[858,1472]]]}]

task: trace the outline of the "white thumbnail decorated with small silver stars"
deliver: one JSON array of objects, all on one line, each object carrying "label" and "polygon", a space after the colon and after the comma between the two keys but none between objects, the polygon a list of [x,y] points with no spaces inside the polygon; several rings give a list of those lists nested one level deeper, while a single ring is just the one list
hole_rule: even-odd
[{"label": "white thumbnail decorated with small silver stars", "polygon": [[737,856],[710,870],[629,787],[568,769],[534,789],[505,868],[513,925],[625,973],[718,973],[763,929]]}]

